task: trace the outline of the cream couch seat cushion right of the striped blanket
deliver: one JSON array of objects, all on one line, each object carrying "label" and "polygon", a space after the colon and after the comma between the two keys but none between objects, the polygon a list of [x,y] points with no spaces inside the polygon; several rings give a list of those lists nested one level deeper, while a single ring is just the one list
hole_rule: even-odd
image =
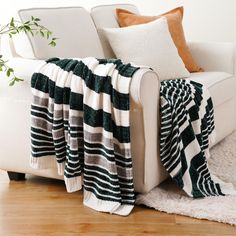
[{"label": "cream couch seat cushion right of the striped blanket", "polygon": [[236,78],[226,72],[191,73],[190,79],[206,86],[212,96],[214,106],[219,106],[236,97]]}]

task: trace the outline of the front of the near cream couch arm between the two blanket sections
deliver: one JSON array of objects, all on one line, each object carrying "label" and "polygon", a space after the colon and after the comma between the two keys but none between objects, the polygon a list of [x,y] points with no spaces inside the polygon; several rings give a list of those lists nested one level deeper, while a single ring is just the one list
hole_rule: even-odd
[{"label": "front of the near cream couch arm between the two blanket sections", "polygon": [[137,192],[148,192],[167,177],[159,158],[159,89],[155,72],[140,69],[134,74],[130,86],[130,132]]}]

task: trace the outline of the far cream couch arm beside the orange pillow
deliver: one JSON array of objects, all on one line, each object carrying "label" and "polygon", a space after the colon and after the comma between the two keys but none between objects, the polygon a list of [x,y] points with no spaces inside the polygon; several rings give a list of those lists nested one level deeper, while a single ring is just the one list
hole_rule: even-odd
[{"label": "far cream couch arm beside the orange pillow", "polygon": [[236,43],[190,42],[196,63],[205,71],[222,71],[236,75]]}]

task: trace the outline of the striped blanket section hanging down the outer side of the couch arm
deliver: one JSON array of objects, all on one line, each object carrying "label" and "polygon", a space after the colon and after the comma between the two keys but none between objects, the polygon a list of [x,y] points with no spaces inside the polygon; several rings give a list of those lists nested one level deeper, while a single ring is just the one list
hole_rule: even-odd
[{"label": "striped blanket section hanging down the outer side of the couch arm", "polygon": [[53,58],[32,76],[31,166],[57,166],[67,191],[83,184],[84,204],[98,211],[127,215],[134,206],[129,85],[137,70]]}]

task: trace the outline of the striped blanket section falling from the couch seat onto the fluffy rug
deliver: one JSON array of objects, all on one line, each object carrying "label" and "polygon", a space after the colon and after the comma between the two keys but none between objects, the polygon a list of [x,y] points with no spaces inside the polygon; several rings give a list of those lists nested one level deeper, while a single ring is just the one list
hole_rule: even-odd
[{"label": "striped blanket section falling from the couch seat onto the fluffy rug", "polygon": [[213,176],[207,166],[215,140],[210,94],[194,81],[161,82],[160,156],[170,176],[194,198],[234,194],[233,186]]}]

